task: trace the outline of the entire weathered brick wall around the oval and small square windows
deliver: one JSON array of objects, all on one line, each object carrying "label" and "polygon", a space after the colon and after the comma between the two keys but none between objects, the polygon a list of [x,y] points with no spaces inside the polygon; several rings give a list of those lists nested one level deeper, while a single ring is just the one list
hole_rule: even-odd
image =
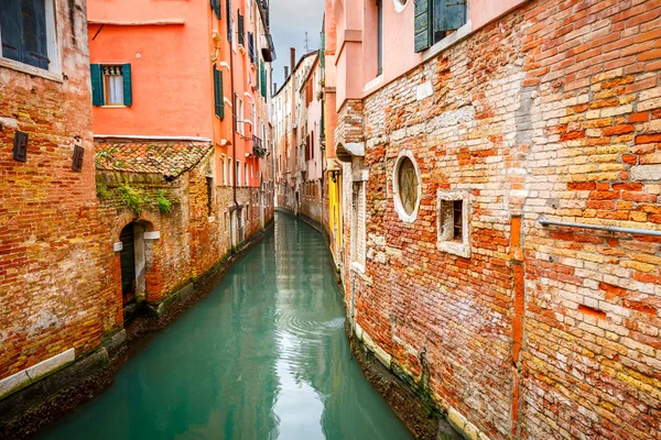
[{"label": "entire weathered brick wall around the oval and small square windows", "polygon": [[[339,112],[336,143],[362,123],[369,170],[365,274],[343,172],[348,309],[468,430],[661,437],[661,240],[537,222],[658,228],[660,16],[531,1]],[[393,204],[402,150],[422,182],[413,223]],[[448,190],[468,194],[469,258],[436,245]]]}]

